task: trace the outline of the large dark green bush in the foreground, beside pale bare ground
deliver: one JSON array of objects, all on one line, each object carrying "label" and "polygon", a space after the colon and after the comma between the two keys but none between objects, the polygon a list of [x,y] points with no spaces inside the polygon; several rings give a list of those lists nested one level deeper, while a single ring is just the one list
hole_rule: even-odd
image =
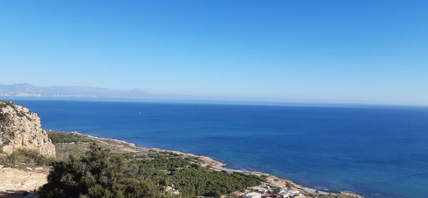
[{"label": "large dark green bush in the foreground, beside pale bare ground", "polygon": [[91,144],[83,157],[55,162],[40,197],[163,197],[156,185],[138,178],[138,167],[121,154]]}]

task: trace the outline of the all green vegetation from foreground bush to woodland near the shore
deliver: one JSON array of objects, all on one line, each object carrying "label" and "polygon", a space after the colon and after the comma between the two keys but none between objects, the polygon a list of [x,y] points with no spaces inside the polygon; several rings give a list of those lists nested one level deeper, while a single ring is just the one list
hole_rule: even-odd
[{"label": "all green vegetation from foreground bush to woodland near the shore", "polygon": [[[81,157],[55,162],[41,197],[220,197],[263,182],[256,176],[199,167],[198,158],[170,152],[113,154],[91,144]],[[168,195],[167,195],[168,194]]]}]

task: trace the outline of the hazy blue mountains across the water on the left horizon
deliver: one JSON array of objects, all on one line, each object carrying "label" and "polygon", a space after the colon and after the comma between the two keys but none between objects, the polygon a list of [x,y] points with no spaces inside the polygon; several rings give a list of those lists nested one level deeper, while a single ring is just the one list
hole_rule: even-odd
[{"label": "hazy blue mountains across the water on the left horizon", "polygon": [[78,97],[78,98],[123,98],[146,99],[162,97],[148,94],[139,89],[118,91],[91,86],[33,86],[23,84],[0,84],[0,96],[32,96],[32,97]]}]

